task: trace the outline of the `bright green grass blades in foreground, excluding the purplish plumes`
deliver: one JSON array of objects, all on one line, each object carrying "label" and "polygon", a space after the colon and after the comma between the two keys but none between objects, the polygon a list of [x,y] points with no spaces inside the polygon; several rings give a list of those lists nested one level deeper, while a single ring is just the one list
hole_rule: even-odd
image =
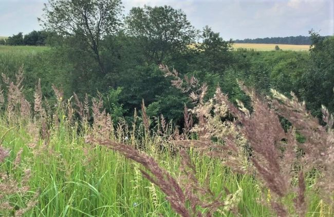
[{"label": "bright green grass blades in foreground, excluding the purplish plumes", "polygon": [[[10,127],[5,120],[2,118],[0,121],[2,135]],[[177,216],[164,194],[141,176],[138,164],[105,147],[85,144],[84,137],[75,133],[76,128],[64,122],[51,130],[48,146],[40,141],[36,147],[29,148],[32,143],[29,130],[25,124],[19,124],[6,134],[3,146],[12,151],[7,162],[0,165],[0,170],[16,174],[20,179],[12,170],[12,162],[17,151],[24,149],[18,170],[31,168],[31,189],[24,198],[12,195],[10,201],[17,207],[24,207],[24,201],[31,198],[33,192],[40,192],[38,204],[25,216],[159,216],[160,213]],[[118,132],[132,134],[121,129]],[[112,137],[116,141],[122,139],[115,134]],[[145,145],[146,152],[178,177],[180,157],[169,151],[155,151],[163,143],[159,137],[143,141],[136,140],[134,143]],[[210,175],[210,186],[215,194],[224,192],[225,187],[230,192],[239,187],[243,189],[243,198],[239,203],[243,216],[272,215],[257,202],[263,195],[266,198],[267,193],[251,175],[236,175],[222,166],[219,160],[212,160],[195,151],[191,151],[191,157],[200,182],[205,182]],[[311,191],[308,193],[313,195]],[[328,207],[321,204],[316,195],[311,198],[307,216],[331,216],[332,213],[327,213]]]}]

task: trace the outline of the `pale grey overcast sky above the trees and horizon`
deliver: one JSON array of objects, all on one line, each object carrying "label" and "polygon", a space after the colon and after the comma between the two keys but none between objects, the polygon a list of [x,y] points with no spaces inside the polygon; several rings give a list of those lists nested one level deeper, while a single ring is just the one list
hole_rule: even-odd
[{"label": "pale grey overcast sky above the trees and horizon", "polygon": [[[0,0],[0,36],[40,30],[37,17],[47,0]],[[190,22],[209,25],[228,40],[334,34],[334,0],[123,0],[124,13],[134,6],[171,5]]]}]

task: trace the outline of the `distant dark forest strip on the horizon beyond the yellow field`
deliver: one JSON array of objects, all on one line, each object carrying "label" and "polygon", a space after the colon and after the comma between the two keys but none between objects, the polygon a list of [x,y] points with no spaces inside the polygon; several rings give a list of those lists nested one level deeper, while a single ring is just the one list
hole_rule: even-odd
[{"label": "distant dark forest strip on the horizon beyond the yellow field", "polygon": [[[328,36],[324,36],[328,37]],[[311,45],[309,36],[289,36],[289,37],[265,37],[244,40],[235,40],[234,43],[249,43],[249,44],[285,44],[285,45]]]}]

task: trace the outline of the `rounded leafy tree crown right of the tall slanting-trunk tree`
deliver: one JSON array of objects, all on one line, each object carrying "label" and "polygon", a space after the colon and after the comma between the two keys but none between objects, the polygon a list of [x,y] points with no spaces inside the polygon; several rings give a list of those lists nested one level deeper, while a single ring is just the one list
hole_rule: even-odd
[{"label": "rounded leafy tree crown right of the tall slanting-trunk tree", "polygon": [[149,62],[160,64],[187,49],[197,31],[187,16],[171,6],[134,7],[125,19],[127,34],[137,39]]}]

